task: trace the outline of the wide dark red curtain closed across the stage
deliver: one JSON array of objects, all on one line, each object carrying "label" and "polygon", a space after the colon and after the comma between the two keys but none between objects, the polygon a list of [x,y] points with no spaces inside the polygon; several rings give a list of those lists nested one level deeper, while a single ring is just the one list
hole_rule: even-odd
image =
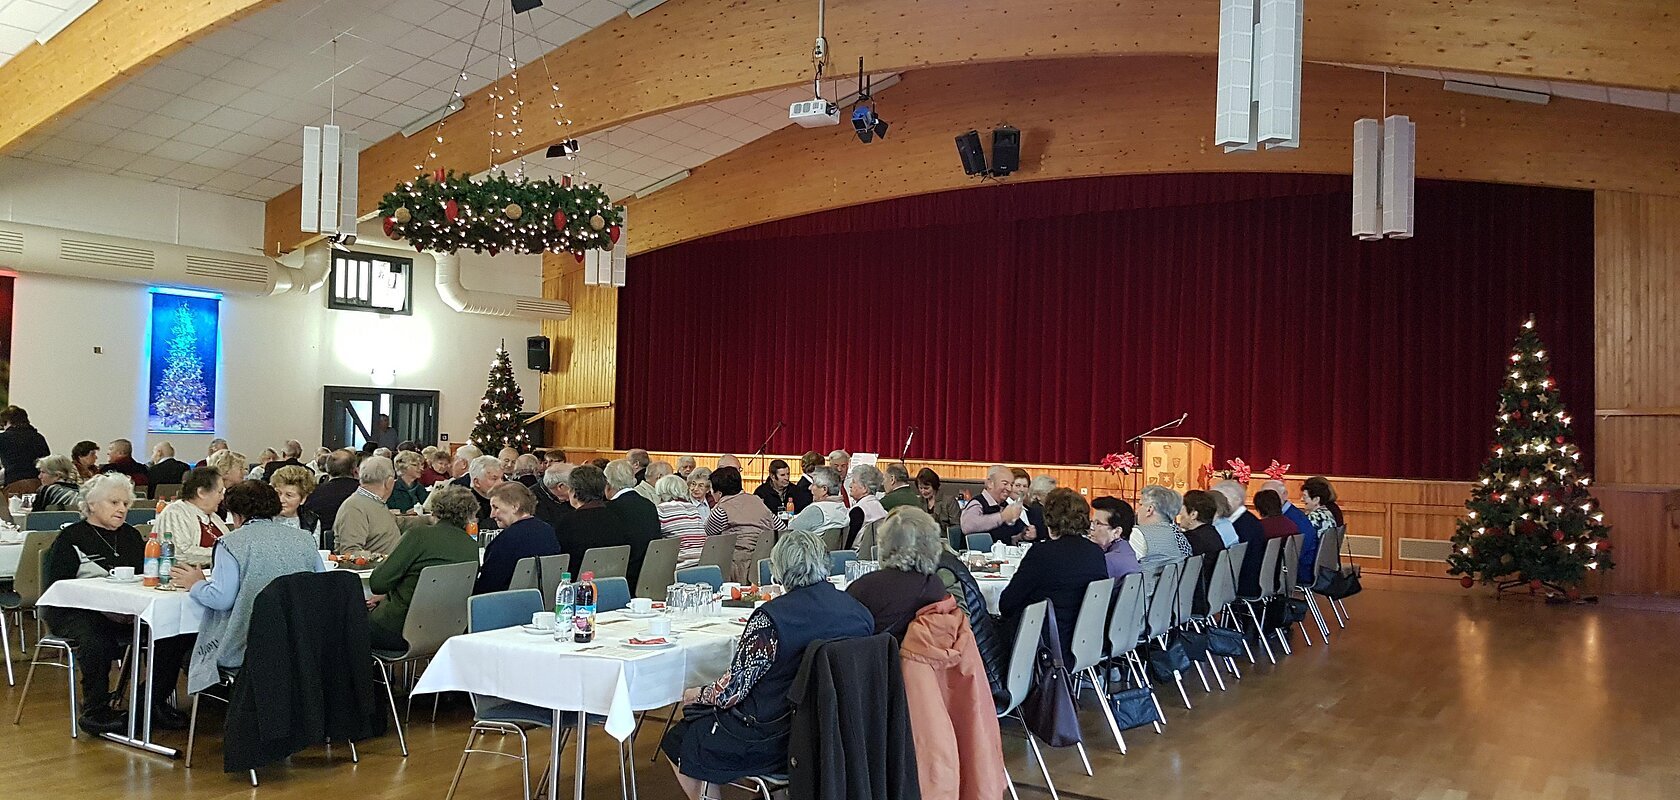
[{"label": "wide dark red curtain closed across the stage", "polygon": [[1593,422],[1593,197],[1420,182],[1418,237],[1349,235],[1351,182],[986,187],[632,259],[618,447],[1090,464],[1188,412],[1216,459],[1468,479],[1534,313]]}]

